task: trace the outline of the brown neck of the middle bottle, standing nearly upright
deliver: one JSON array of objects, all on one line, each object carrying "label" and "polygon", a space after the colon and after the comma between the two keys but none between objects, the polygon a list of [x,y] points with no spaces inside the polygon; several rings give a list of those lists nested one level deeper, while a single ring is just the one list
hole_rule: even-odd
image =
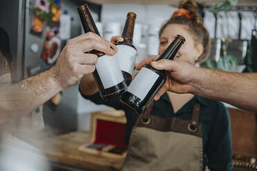
[{"label": "brown neck of the middle bottle, standing nearly upright", "polygon": [[126,23],[122,32],[122,37],[124,41],[128,43],[133,43],[133,33],[135,27],[135,16],[126,17]]}]

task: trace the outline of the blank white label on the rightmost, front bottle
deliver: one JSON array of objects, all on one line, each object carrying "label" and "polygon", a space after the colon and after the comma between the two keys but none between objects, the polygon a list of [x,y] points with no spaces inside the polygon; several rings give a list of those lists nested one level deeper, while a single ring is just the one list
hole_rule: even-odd
[{"label": "blank white label on the rightmost, front bottle", "polygon": [[152,70],[142,68],[128,86],[127,91],[144,100],[144,97],[149,93],[158,77],[159,75]]}]

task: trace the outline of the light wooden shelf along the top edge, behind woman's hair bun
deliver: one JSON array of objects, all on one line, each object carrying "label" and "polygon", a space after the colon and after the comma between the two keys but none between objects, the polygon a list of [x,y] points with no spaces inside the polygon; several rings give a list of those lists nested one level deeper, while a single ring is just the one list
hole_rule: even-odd
[{"label": "light wooden shelf along the top edge, behind woman's hair bun", "polygon": [[[91,3],[97,4],[166,4],[171,6],[178,6],[177,0],[85,0]],[[204,6],[210,6],[220,0],[196,0],[198,3],[202,3]],[[238,0],[238,6],[257,6],[256,0]]]}]

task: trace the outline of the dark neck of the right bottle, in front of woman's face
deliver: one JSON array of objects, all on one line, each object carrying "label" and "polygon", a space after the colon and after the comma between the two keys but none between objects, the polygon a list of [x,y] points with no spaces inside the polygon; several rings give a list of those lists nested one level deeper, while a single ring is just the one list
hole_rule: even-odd
[{"label": "dark neck of the right bottle, in front of woman's face", "polygon": [[161,59],[173,60],[178,50],[180,50],[180,47],[182,46],[183,43],[184,43],[184,39],[180,39],[176,37],[175,40],[171,42],[168,48],[166,48],[166,50],[162,52],[162,54],[156,61],[160,61]]}]

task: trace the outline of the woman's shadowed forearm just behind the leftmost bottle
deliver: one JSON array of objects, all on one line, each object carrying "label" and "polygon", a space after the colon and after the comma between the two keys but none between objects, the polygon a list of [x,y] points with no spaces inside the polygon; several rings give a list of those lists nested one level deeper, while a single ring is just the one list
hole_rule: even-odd
[{"label": "woman's shadowed forearm just behind the leftmost bottle", "polygon": [[79,88],[84,95],[92,95],[98,92],[93,74],[86,74],[79,83]]}]

